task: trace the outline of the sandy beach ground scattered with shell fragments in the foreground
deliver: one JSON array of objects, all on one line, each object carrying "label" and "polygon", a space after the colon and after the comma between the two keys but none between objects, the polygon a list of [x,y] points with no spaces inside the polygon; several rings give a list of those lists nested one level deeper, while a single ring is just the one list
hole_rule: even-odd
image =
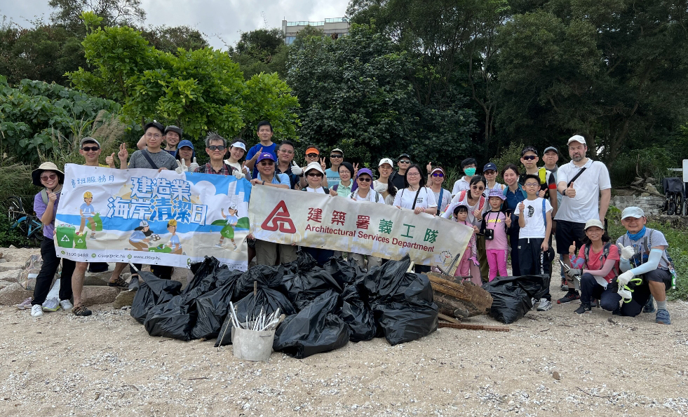
[{"label": "sandy beach ground scattered with shell fragments in the foreground", "polygon": [[[555,275],[556,276],[556,275]],[[563,292],[553,283],[553,298]],[[618,317],[578,303],[509,332],[438,329],[296,360],[151,337],[129,310],[0,307],[0,416],[677,416],[688,413],[688,303]],[[469,323],[499,324],[490,317]]]}]

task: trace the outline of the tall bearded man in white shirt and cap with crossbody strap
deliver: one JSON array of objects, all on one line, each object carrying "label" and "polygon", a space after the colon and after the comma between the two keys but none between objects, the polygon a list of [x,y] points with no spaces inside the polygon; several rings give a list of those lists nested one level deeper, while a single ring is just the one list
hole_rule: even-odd
[{"label": "tall bearded man in white shirt and cap with crossbody strap", "polygon": [[[571,162],[562,165],[557,172],[557,189],[562,193],[561,207],[555,220],[557,221],[557,252],[562,254],[564,261],[569,261],[569,247],[572,242],[576,250],[581,247],[586,221],[600,219],[605,222],[609,200],[612,198],[612,182],[605,164],[598,160],[586,158],[586,139],[581,135],[574,135],[567,142]],[[580,299],[573,282],[568,282],[569,291],[559,299],[558,303],[568,303]]]}]

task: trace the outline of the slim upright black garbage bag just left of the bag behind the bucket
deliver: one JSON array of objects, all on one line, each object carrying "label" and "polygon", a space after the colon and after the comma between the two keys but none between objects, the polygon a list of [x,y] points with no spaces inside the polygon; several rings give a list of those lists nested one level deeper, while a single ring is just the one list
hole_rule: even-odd
[{"label": "slim upright black garbage bag just left of the bag behind the bucket", "polygon": [[234,296],[236,283],[242,271],[222,269],[216,273],[217,288],[196,298],[196,324],[191,329],[191,339],[213,339],[222,327],[229,311],[229,301]]}]

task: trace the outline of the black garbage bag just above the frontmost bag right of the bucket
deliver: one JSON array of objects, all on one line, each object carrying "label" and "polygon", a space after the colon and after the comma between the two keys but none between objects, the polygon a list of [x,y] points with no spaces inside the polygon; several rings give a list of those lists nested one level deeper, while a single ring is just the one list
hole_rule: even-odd
[{"label": "black garbage bag just above the frontmost bag right of the bucket", "polygon": [[334,289],[337,293],[342,292],[339,282],[320,266],[314,266],[310,271],[284,275],[279,288],[283,294],[287,294],[297,310],[301,310],[329,289]]}]

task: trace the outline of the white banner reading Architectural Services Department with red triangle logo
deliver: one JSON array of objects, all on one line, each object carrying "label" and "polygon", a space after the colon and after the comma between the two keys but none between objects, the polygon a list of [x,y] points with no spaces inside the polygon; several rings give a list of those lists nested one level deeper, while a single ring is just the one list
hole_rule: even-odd
[{"label": "white banner reading Architectural Services Department with red triangle logo", "polygon": [[446,270],[473,230],[432,214],[267,186],[253,187],[249,219],[257,239],[385,259],[409,254]]}]

